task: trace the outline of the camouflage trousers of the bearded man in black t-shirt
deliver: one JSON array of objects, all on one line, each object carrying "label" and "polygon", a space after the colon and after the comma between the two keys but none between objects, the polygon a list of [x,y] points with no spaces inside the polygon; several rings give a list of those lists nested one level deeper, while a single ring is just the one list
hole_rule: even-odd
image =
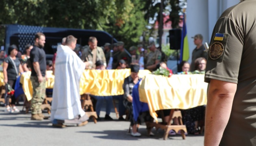
[{"label": "camouflage trousers of the bearded man in black t-shirt", "polygon": [[46,78],[43,77],[43,82],[38,82],[37,76],[30,76],[30,81],[33,86],[33,98],[31,99],[31,114],[41,114],[41,105],[46,97]]}]

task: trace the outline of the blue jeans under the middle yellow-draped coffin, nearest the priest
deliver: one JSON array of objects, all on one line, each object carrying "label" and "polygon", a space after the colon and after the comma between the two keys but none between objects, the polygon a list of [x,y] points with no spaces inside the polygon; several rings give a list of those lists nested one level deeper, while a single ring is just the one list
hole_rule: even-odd
[{"label": "blue jeans under the middle yellow-draped coffin, nearest the priest", "polygon": [[94,96],[94,95],[90,95],[90,96],[97,100],[95,110],[98,116],[100,115],[100,109],[103,105],[104,100],[106,100],[106,115],[110,114],[111,106],[113,104],[112,96]]}]

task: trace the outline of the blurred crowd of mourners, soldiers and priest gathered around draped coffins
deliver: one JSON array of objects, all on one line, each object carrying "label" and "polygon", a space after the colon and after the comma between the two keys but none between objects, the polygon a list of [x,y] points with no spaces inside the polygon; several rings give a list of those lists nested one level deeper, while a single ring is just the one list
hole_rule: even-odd
[{"label": "blurred crowd of mourners, soldiers and priest gathered around draped coffins", "polygon": [[[206,59],[204,58],[205,49],[202,49],[202,35],[197,34],[193,39],[197,46],[192,54],[193,65],[187,61],[181,62],[182,72],[178,74],[203,74],[205,71]],[[28,44],[23,55],[18,54],[17,46],[11,45],[8,49],[8,57],[4,58],[3,51],[0,52],[0,59],[3,62],[4,82],[14,89],[19,73],[31,71],[30,80],[33,85],[33,99],[30,107],[31,120],[43,120],[44,116],[40,106],[46,94],[46,71],[53,71],[55,75],[51,110],[53,126],[63,127],[65,123],[74,123],[81,126],[85,125],[88,120],[80,103],[79,79],[82,71],[84,69],[130,68],[131,75],[124,80],[124,95],[104,97],[91,95],[91,97],[97,101],[95,104],[97,120],[101,120],[100,111],[104,101],[106,101],[104,119],[113,120],[109,116],[113,104],[112,100],[113,98],[119,100],[119,120],[125,120],[123,116],[125,111],[128,110],[132,127],[131,135],[140,136],[141,134],[137,131],[137,124],[140,120],[137,121],[132,116],[132,89],[140,80],[138,76],[140,69],[148,69],[149,71],[155,71],[159,67],[167,69],[166,60],[164,60],[166,57],[163,56],[163,53],[156,47],[154,42],[150,42],[147,49],[144,49],[141,44],[137,45],[137,47],[131,46],[128,49],[128,53],[124,48],[124,42],[121,41],[114,44],[106,43],[103,47],[98,47],[97,39],[91,36],[88,45],[78,48],[76,40],[72,35],[63,38],[52,60],[46,60],[46,54],[43,50],[46,37],[43,33],[38,32],[35,35],[35,44]],[[143,61],[141,61],[141,58],[143,58]],[[195,69],[191,69],[190,66],[195,67]],[[72,83],[72,86],[68,85],[70,83]],[[9,103],[9,98],[11,98],[11,104]],[[20,112],[15,107],[15,101],[13,95],[7,95],[6,112]],[[169,110],[164,113],[166,119],[168,119]],[[189,133],[198,134],[198,121],[203,119],[203,113],[204,106],[182,111],[183,121],[188,127]],[[150,120],[149,112],[145,112],[142,115],[144,119],[142,121]],[[195,117],[192,117],[192,115]],[[175,120],[174,123],[176,123]],[[150,134],[153,135],[153,133]]]}]

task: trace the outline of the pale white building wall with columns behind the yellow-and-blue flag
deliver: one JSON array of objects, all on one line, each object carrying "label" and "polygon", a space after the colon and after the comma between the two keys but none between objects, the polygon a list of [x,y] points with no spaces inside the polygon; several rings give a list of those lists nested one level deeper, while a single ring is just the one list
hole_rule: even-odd
[{"label": "pale white building wall with columns behind the yellow-and-blue flag", "polygon": [[202,34],[203,43],[210,43],[210,37],[216,21],[223,11],[238,4],[240,0],[187,0],[187,35],[189,38],[189,52],[191,55],[195,45],[192,36]]}]

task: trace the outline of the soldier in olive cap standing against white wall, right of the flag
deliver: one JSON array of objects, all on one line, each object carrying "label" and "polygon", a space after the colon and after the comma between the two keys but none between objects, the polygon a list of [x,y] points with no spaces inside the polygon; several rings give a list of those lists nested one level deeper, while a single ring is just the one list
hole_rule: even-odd
[{"label": "soldier in olive cap standing against white wall, right of the flag", "polygon": [[192,62],[191,62],[190,70],[195,71],[196,70],[195,69],[195,60],[200,57],[207,59],[207,52],[204,48],[204,45],[202,44],[202,42],[203,42],[202,34],[196,34],[192,38],[194,39],[194,44],[196,45],[196,47],[192,52]]}]

